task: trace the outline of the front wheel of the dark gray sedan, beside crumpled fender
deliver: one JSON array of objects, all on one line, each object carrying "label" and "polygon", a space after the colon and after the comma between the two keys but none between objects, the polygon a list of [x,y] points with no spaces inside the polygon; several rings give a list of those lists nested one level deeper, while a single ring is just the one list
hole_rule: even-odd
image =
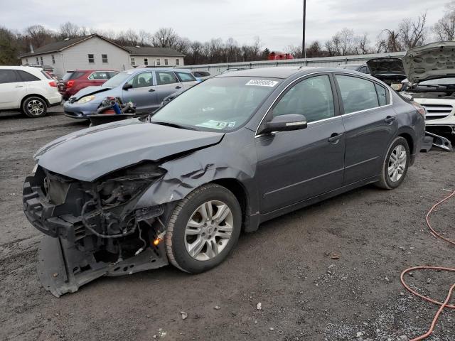
[{"label": "front wheel of the dark gray sedan, beside crumpled fender", "polygon": [[169,218],[168,259],[191,274],[212,269],[232,251],[241,226],[242,210],[235,195],[220,185],[203,185],[181,200]]}]

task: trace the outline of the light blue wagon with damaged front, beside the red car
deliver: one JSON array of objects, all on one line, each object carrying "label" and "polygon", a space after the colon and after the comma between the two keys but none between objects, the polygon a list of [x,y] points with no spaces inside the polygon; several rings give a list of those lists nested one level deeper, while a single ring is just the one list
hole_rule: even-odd
[{"label": "light blue wagon with damaged front, beside the red car", "polygon": [[160,107],[170,94],[183,92],[198,80],[190,70],[174,68],[141,68],[119,72],[100,87],[85,87],[63,105],[65,115],[87,119],[106,97],[120,97],[133,102],[137,114],[148,114]]}]

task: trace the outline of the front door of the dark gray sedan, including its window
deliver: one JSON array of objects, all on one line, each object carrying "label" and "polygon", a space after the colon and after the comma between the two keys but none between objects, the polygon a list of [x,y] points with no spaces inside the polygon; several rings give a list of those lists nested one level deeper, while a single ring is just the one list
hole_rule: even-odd
[{"label": "front door of the dark gray sedan, including its window", "polygon": [[261,213],[341,187],[345,136],[334,95],[330,75],[310,76],[291,85],[265,117],[304,114],[308,126],[256,136]]}]

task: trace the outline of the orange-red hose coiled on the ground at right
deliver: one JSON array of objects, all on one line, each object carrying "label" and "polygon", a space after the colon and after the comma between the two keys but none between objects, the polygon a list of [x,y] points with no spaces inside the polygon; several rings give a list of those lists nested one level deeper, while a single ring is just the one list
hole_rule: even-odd
[{"label": "orange-red hose coiled on the ground at right", "polygon": [[[451,193],[451,195],[447,196],[447,197],[444,197],[443,200],[439,201],[437,204],[433,205],[433,207],[431,208],[431,210],[428,211],[427,213],[427,217],[426,217],[426,221],[427,221],[427,225],[430,229],[430,232],[433,234],[433,236],[435,238],[441,238],[443,239],[444,241],[446,242],[449,242],[450,244],[453,244],[455,245],[455,242],[454,241],[451,241],[450,239],[446,239],[444,237],[441,236],[441,234],[439,234],[438,232],[436,232],[433,227],[432,227],[432,224],[430,224],[429,222],[429,216],[432,214],[432,212],[434,211],[434,209],[436,207],[438,207],[439,205],[441,205],[443,202],[449,200],[451,197],[453,197],[455,195],[455,191],[453,193]],[[413,293],[415,296],[418,296],[419,298],[423,298],[425,301],[428,301],[428,302],[431,302],[431,303],[434,303],[434,304],[437,304],[437,305],[440,305],[439,306],[439,309],[436,313],[436,315],[434,315],[434,318],[433,318],[433,321],[432,321],[432,325],[430,326],[429,330],[422,336],[419,336],[419,337],[416,337],[415,339],[412,339],[410,341],[419,341],[419,340],[424,340],[425,338],[429,337],[429,335],[432,334],[433,330],[434,330],[434,326],[436,325],[437,323],[437,320],[439,318],[439,315],[441,315],[442,313],[442,310],[444,310],[444,308],[452,308],[452,309],[455,309],[455,305],[451,305],[449,304],[449,301],[450,301],[450,298],[451,298],[451,295],[452,295],[452,292],[455,290],[455,283],[453,286],[451,286],[451,288],[449,289],[449,293],[447,293],[447,296],[446,296],[446,300],[444,301],[444,303],[442,302],[439,302],[439,301],[435,301],[435,300],[432,300],[432,298],[429,298],[427,296],[423,296],[419,293],[417,293],[417,291],[414,291],[412,290],[409,286],[407,286],[407,284],[405,283],[405,279],[404,279],[404,276],[405,274],[407,274],[408,272],[410,271],[414,271],[414,270],[421,270],[421,269],[431,269],[431,270],[437,270],[437,271],[454,271],[455,272],[455,269],[451,269],[451,268],[443,268],[441,266],[414,266],[413,268],[410,268],[410,269],[406,269],[405,271],[403,271],[401,273],[401,276],[400,276],[400,279],[401,279],[401,283],[402,285],[407,289],[407,291],[410,291],[410,293]]]}]

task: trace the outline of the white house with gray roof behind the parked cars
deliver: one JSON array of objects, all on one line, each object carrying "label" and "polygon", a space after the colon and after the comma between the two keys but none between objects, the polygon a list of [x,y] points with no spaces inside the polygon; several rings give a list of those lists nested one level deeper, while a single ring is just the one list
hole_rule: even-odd
[{"label": "white house with gray roof behind the parked cars", "polygon": [[127,70],[138,65],[179,66],[184,55],[169,48],[126,47],[92,34],[41,46],[19,56],[23,65],[50,65],[61,77],[69,70]]}]

